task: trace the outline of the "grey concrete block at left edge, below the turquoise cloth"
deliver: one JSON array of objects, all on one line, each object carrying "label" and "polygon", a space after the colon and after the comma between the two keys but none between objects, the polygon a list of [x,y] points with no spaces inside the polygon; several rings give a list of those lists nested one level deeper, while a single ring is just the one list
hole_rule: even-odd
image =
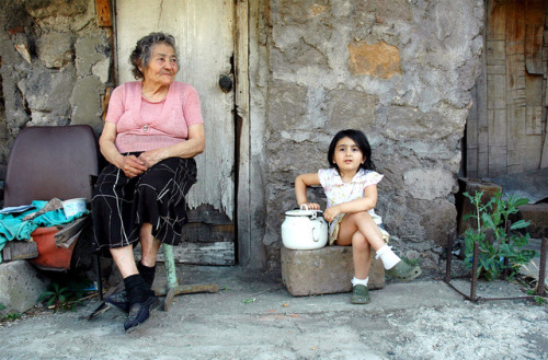
[{"label": "grey concrete block at left edge, below the turquoise cloth", "polygon": [[0,264],[0,315],[32,309],[46,291],[47,280],[25,260]]}]

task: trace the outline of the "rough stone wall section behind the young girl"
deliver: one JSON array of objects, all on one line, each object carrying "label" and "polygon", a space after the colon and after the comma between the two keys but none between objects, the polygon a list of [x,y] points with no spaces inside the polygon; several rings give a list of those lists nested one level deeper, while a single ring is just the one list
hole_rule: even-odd
[{"label": "rough stone wall section behind the young girl", "polygon": [[[456,225],[454,194],[470,89],[480,73],[483,1],[271,0],[266,43],[267,265],[299,173],[328,167],[333,135],[373,147],[377,211],[395,249],[436,267]],[[309,190],[321,199],[322,190]]]}]

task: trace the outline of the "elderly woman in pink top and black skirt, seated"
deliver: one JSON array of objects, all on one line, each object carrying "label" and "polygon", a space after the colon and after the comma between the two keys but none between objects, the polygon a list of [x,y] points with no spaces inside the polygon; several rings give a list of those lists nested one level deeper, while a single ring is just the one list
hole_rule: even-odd
[{"label": "elderly woman in pink top and black skirt, seated", "polygon": [[[204,151],[196,91],[178,82],[174,38],[152,33],[130,55],[138,81],[111,96],[101,153],[110,164],[93,193],[95,249],[112,255],[125,290],[106,299],[125,311],[126,332],[144,323],[158,302],[151,286],[161,243],[178,245],[186,223],[185,196],[196,182],[194,156]],[[136,265],[133,248],[141,245]]]}]

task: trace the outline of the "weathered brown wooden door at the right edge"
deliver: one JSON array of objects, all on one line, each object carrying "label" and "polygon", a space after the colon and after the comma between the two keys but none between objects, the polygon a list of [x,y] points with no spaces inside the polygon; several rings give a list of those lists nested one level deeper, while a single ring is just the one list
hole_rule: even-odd
[{"label": "weathered brown wooden door at the right edge", "polygon": [[466,132],[467,177],[548,166],[547,3],[486,1],[483,71]]}]

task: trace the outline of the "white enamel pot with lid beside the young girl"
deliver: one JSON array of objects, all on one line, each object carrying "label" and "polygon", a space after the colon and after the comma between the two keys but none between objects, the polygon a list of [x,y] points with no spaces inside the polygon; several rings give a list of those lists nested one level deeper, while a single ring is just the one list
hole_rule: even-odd
[{"label": "white enamel pot with lid beside the young girl", "polygon": [[328,243],[328,223],[320,210],[308,210],[304,205],[300,210],[285,212],[282,223],[282,242],[289,249],[315,249]]}]

